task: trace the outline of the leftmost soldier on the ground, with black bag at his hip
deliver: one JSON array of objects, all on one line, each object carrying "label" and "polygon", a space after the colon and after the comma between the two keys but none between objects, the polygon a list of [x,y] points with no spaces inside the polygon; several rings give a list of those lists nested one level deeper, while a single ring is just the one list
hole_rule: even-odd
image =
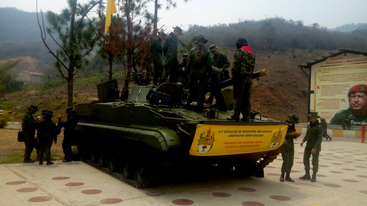
[{"label": "leftmost soldier on the ground, with black bag at his hip", "polygon": [[[32,163],[33,159],[30,158],[34,148],[34,135],[36,134],[36,128],[39,121],[34,120],[33,114],[38,111],[38,107],[31,105],[27,107],[28,111],[24,114],[22,121],[23,133],[25,135],[25,151],[24,151],[24,163]],[[42,117],[39,119],[41,120]]]}]

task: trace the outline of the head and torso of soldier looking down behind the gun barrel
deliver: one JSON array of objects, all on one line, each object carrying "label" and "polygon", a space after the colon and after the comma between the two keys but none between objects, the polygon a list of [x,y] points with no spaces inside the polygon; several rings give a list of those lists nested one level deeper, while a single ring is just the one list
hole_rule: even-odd
[{"label": "head and torso of soldier looking down behind the gun barrel", "polygon": [[219,71],[221,72],[220,73],[221,81],[228,80],[229,76],[228,77],[224,76],[225,72],[228,75],[228,70],[226,70],[226,69],[228,69],[228,67],[230,65],[230,62],[229,62],[227,56],[225,54],[219,52],[218,47],[215,44],[210,45],[209,49],[210,49],[210,52],[213,54],[213,56],[211,58],[211,65],[217,67],[219,69]]}]

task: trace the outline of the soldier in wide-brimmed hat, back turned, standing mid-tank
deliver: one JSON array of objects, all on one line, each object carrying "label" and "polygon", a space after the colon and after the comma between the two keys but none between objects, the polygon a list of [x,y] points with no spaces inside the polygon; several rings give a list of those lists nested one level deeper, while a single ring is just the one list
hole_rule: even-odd
[{"label": "soldier in wide-brimmed hat, back turned, standing mid-tank", "polygon": [[194,41],[196,47],[191,49],[187,63],[189,92],[186,108],[189,108],[189,105],[196,99],[193,93],[197,92],[199,93],[197,97],[197,112],[199,113],[203,112],[207,83],[210,82],[212,76],[210,52],[204,47],[207,42],[208,40],[203,35],[197,36]]}]

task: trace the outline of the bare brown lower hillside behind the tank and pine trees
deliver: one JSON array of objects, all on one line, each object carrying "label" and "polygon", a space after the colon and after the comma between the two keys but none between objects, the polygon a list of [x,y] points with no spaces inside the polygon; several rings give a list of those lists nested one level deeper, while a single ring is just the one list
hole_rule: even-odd
[{"label": "bare brown lower hillside behind the tank and pine trees", "polygon": [[[252,109],[258,109],[261,111],[261,114],[268,115],[269,118],[283,121],[287,119],[288,114],[298,113],[300,122],[306,122],[308,77],[297,65],[321,56],[326,52],[326,50],[318,49],[312,53],[304,50],[279,52],[278,54],[257,52],[255,71],[268,68],[269,76],[259,80],[259,84],[263,85],[252,88]],[[227,56],[232,62],[233,53],[229,52]],[[74,103],[88,103],[98,98],[95,84],[107,80],[106,77],[98,76],[96,81],[91,81],[90,84],[85,84],[86,86],[76,84],[74,87]],[[122,80],[121,78],[118,77],[119,81]],[[132,85],[133,83],[131,82]],[[45,90],[42,96],[38,96],[37,92],[39,91],[34,87],[29,87],[27,91],[7,94],[3,98],[5,102],[0,103],[0,107],[8,106],[11,111],[22,114],[25,112],[26,107],[34,104],[40,110],[49,109],[53,110],[55,114],[63,114],[67,99],[66,87],[58,87],[50,94],[51,91]]]}]

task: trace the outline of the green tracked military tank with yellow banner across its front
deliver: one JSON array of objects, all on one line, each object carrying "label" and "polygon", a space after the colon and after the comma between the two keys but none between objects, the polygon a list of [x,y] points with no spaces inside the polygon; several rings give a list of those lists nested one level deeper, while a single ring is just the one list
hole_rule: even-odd
[{"label": "green tracked military tank with yellow banner across its front", "polygon": [[[222,82],[221,88],[231,81]],[[135,86],[127,100],[119,99],[117,86],[116,80],[99,84],[99,100],[76,105],[78,148],[89,163],[119,173],[119,179],[137,188],[157,183],[159,174],[176,164],[264,177],[286,135],[286,122],[257,110],[251,111],[249,122],[226,120],[231,110],[186,110],[179,84]]]}]

